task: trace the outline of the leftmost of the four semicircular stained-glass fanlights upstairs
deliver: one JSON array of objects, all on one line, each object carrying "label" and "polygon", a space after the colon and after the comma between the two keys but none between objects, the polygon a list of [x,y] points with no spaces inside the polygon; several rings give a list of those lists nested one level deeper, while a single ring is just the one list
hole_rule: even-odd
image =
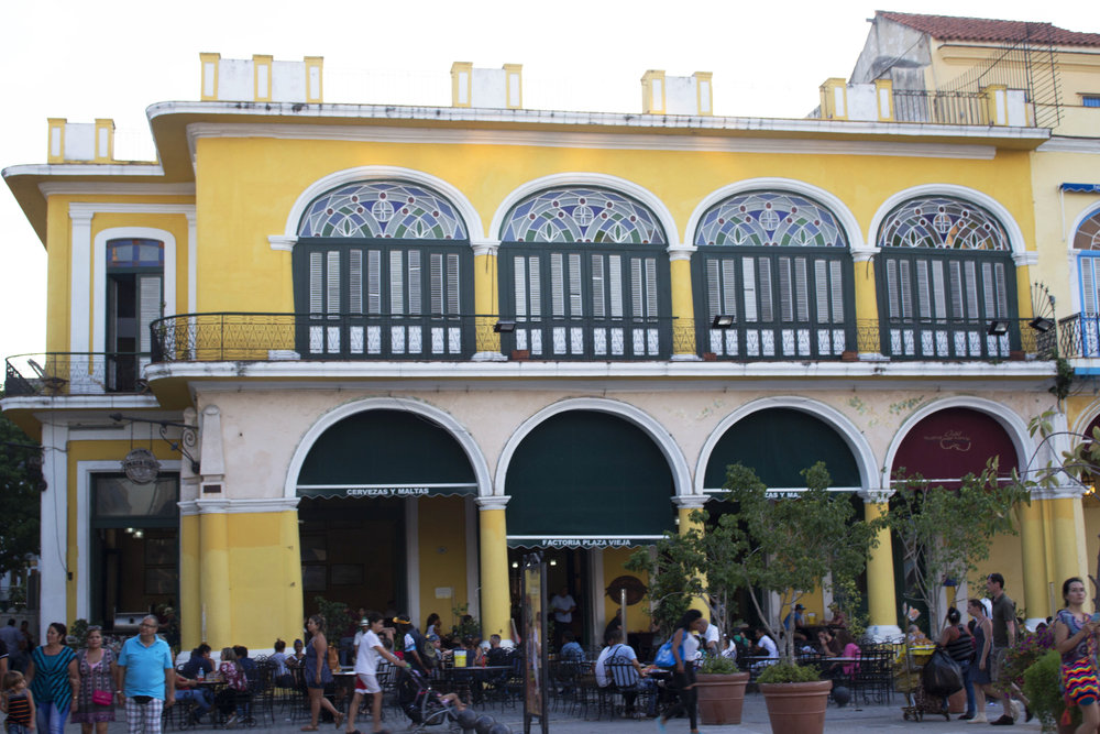
[{"label": "leftmost of the four semicircular stained-glass fanlights upstairs", "polygon": [[298,237],[468,239],[447,199],[403,182],[361,182],[322,194],[306,207]]}]

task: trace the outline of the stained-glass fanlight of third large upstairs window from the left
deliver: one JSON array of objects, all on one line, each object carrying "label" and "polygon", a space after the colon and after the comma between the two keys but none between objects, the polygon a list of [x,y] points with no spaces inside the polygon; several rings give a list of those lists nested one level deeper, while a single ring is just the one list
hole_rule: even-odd
[{"label": "stained-glass fanlight of third large upstairs window from the left", "polygon": [[738,194],[707,209],[695,233],[696,245],[847,247],[833,213],[798,194]]}]

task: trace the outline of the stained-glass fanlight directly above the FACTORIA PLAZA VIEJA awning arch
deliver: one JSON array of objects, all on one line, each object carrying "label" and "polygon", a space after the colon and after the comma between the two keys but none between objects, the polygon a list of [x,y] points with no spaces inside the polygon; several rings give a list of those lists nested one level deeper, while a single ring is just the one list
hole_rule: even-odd
[{"label": "stained-glass fanlight directly above the FACTORIA PLAZA VIEJA awning arch", "polygon": [[553,188],[508,212],[504,242],[664,244],[664,230],[641,204],[597,188]]}]

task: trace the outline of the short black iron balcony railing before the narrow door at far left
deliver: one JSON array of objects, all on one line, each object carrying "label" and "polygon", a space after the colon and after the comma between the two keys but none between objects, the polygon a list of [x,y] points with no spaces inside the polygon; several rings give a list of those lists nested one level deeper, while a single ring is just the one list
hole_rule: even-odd
[{"label": "short black iron balcony railing before the narrow door at far left", "polygon": [[140,393],[147,353],[46,352],[9,357],[4,395],[103,395]]}]

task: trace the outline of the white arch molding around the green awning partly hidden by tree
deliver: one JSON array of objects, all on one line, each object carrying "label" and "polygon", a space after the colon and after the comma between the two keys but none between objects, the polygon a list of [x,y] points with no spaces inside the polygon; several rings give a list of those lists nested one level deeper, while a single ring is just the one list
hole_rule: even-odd
[{"label": "white arch molding around the green awning partly hidden by tree", "polygon": [[695,494],[703,494],[703,490],[705,489],[703,484],[706,479],[706,467],[711,461],[711,454],[714,453],[714,448],[718,445],[718,441],[722,440],[722,437],[725,436],[726,431],[738,421],[744,420],[755,413],[760,413],[761,410],[772,410],[776,408],[800,410],[817,418],[825,425],[836,430],[837,434],[840,435],[844,442],[848,445],[848,449],[851,451],[853,458],[856,460],[856,468],[859,470],[860,496],[866,496],[868,492],[877,492],[880,489],[875,484],[876,476],[878,476],[878,470],[876,469],[875,463],[875,452],[871,451],[870,443],[867,442],[867,439],[864,437],[864,434],[859,430],[859,428],[857,428],[847,416],[832,406],[818,401],[799,397],[796,395],[787,395],[761,397],[752,401],[751,403],[746,403],[723,418],[722,421],[714,427],[714,430],[711,431],[706,442],[703,443],[703,448],[700,450],[698,464],[695,467]]}]

